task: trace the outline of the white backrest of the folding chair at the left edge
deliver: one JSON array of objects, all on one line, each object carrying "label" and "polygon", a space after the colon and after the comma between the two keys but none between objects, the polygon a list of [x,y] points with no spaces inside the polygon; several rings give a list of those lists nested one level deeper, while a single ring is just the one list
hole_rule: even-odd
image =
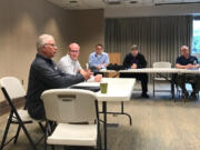
[{"label": "white backrest of the folding chair at the left edge", "polygon": [[26,96],[26,91],[19,81],[18,78],[16,77],[3,77],[0,79],[0,86],[3,88],[10,99],[17,99],[17,98],[22,98]]}]

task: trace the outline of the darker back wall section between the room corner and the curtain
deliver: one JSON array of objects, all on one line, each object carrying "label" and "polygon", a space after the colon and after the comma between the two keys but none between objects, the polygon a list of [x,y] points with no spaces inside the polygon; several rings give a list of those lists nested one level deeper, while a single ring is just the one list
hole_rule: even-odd
[{"label": "darker back wall section between the room corner and the curtain", "polygon": [[72,12],[73,33],[70,41],[80,44],[79,61],[84,68],[89,54],[94,51],[97,43],[104,42],[103,10],[82,10]]}]

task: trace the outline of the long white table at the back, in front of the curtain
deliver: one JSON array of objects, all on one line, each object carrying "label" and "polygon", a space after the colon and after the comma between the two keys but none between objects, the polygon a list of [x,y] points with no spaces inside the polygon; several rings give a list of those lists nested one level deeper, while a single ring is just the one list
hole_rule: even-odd
[{"label": "long white table at the back, in front of the curtain", "polygon": [[[106,70],[102,69],[100,70],[100,72],[102,73],[108,73],[108,72],[114,72],[114,70]],[[169,73],[174,74],[188,74],[188,73],[193,73],[193,74],[199,74],[200,73],[200,69],[177,69],[177,68],[141,68],[141,69],[127,69],[127,70],[119,70],[116,71],[119,73],[154,73],[154,74],[160,74],[162,78],[166,78],[167,80],[169,80],[167,77],[162,76],[163,73]],[[172,78],[169,80],[169,82],[171,83],[171,94],[172,98],[174,98],[174,81],[172,80]]]}]

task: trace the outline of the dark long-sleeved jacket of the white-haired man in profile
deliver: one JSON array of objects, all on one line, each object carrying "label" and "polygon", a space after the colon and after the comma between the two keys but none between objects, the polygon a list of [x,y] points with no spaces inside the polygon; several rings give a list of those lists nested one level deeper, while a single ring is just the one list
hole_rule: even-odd
[{"label": "dark long-sleeved jacket of the white-haired man in profile", "polygon": [[37,117],[36,114],[38,114],[37,111],[42,112],[41,109],[43,109],[43,102],[40,99],[40,96],[44,90],[67,88],[82,81],[84,81],[82,74],[66,74],[51,59],[37,53],[29,72],[27,92],[27,107],[29,114],[36,119],[43,118],[44,114],[41,114],[40,117]]}]

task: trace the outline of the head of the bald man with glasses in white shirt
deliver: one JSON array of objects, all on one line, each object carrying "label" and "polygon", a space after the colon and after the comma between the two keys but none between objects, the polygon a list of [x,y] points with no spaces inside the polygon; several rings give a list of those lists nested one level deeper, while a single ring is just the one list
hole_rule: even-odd
[{"label": "head of the bald man with glasses in white shirt", "polygon": [[78,60],[79,52],[80,52],[80,46],[78,43],[73,42],[69,44],[68,54],[72,60],[74,61]]}]

